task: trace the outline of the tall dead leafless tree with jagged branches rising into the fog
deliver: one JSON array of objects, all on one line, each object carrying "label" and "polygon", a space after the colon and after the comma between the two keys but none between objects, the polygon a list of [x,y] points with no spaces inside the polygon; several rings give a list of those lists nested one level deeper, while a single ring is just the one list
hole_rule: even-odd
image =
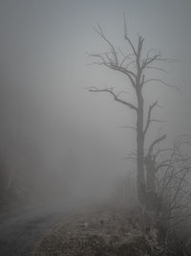
[{"label": "tall dead leafless tree with jagged branches rising into the fog", "polygon": [[[133,43],[132,39],[128,35],[127,24],[124,16],[124,40],[130,47],[130,53],[124,54],[120,49],[116,49],[111,40],[103,33],[101,27],[97,25],[95,28],[96,34],[106,43],[109,48],[109,51],[103,54],[89,54],[91,58],[96,58],[95,64],[103,65],[109,69],[121,73],[128,79],[127,86],[130,86],[136,97],[137,103],[131,103],[123,100],[120,97],[121,91],[116,92],[114,87],[102,87],[97,88],[96,86],[89,87],[91,92],[105,92],[110,94],[114,100],[121,104],[126,105],[132,111],[135,112],[137,116],[136,132],[137,132],[137,164],[138,164],[138,201],[142,205],[145,205],[146,193],[149,187],[146,187],[146,177],[145,177],[145,157],[147,167],[151,161],[148,161],[149,157],[152,155],[154,147],[159,144],[160,141],[164,140],[166,135],[160,136],[158,139],[151,143],[151,146],[147,153],[145,153],[145,139],[149,131],[150,125],[153,122],[160,122],[157,119],[154,119],[152,114],[154,109],[158,106],[158,101],[154,102],[146,110],[147,114],[144,115],[144,96],[143,88],[149,82],[158,82],[162,85],[168,87],[175,87],[166,81],[154,78],[147,78],[146,71],[158,70],[164,72],[162,68],[159,67],[160,62],[172,62],[175,59],[173,58],[163,58],[160,53],[155,53],[152,49],[146,54],[143,53],[144,38],[138,35],[137,43]],[[147,171],[151,168],[147,168]]]}]

